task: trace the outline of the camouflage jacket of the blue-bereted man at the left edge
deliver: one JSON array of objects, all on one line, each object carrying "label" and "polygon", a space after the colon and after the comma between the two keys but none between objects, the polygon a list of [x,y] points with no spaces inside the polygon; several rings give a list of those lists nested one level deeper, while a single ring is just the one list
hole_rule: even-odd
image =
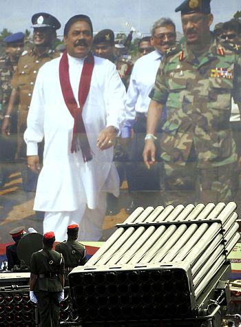
[{"label": "camouflage jacket of the blue-bereted man at the left edge", "polygon": [[12,76],[16,67],[17,63],[16,66],[14,66],[7,54],[0,57],[0,103],[3,105],[3,110],[6,110],[8,106],[8,101],[12,92]]}]

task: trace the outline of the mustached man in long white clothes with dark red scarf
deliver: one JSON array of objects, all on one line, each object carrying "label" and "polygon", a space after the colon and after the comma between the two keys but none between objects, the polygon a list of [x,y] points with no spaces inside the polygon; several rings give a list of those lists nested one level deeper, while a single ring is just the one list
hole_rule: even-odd
[{"label": "mustached man in long white clothes with dark red scarf", "polygon": [[78,14],[64,30],[66,51],[39,70],[24,134],[28,166],[40,171],[34,210],[45,211],[43,233],[65,239],[81,224],[80,240],[99,240],[106,192],[118,196],[113,143],[125,118],[125,87],[114,63],[93,56],[92,22]]}]

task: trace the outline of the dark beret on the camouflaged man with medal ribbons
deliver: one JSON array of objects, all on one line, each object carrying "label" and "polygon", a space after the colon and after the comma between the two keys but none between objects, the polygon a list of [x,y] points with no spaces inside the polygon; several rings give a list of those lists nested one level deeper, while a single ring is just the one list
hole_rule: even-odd
[{"label": "dark beret on the camouflaged man with medal ribbons", "polygon": [[175,9],[175,11],[180,11],[181,14],[193,14],[193,12],[210,14],[210,1],[211,0],[185,0]]}]

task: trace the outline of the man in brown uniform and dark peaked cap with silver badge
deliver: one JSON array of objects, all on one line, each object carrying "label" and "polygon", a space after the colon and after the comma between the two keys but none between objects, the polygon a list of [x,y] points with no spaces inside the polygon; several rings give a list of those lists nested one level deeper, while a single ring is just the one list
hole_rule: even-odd
[{"label": "man in brown uniform and dark peaked cap with silver badge", "polygon": [[[12,93],[6,116],[3,120],[2,133],[8,136],[11,131],[11,115],[19,97],[19,112],[17,122],[17,154],[16,158],[25,161],[26,147],[23,141],[23,132],[27,128],[28,109],[32,98],[32,91],[39,68],[46,62],[59,56],[52,50],[52,43],[56,39],[56,30],[61,28],[61,23],[51,14],[39,12],[32,16],[33,43],[32,50],[25,50],[19,59],[17,70],[12,78]],[[26,191],[34,191],[37,176],[29,169],[22,171],[23,188]]]}]

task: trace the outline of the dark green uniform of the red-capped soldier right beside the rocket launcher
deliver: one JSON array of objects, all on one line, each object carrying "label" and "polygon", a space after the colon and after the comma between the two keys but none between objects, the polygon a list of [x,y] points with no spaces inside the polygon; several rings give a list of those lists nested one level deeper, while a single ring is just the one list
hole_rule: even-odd
[{"label": "dark green uniform of the red-capped soldier right beside the rocket launcher", "polygon": [[65,280],[74,267],[83,266],[87,262],[85,246],[76,240],[67,240],[57,244],[55,251],[62,253],[65,260]]}]

